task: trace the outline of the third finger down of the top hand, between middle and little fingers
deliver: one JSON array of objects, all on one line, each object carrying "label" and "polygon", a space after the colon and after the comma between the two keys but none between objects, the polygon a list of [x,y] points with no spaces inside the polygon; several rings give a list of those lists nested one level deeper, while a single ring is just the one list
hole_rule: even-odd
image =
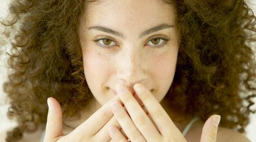
[{"label": "third finger down of the top hand, between middle and little fingers", "polygon": [[142,136],[142,133],[139,132],[137,127],[132,122],[132,119],[127,114],[127,111],[125,111],[124,107],[122,107],[119,102],[113,102],[112,109],[115,118],[117,118],[117,121],[119,122],[120,126],[122,126],[124,133],[131,141],[146,141]]}]

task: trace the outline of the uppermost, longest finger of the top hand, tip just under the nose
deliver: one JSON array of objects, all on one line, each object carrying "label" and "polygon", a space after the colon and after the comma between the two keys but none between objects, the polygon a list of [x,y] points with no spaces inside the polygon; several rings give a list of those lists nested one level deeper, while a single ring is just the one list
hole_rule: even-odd
[{"label": "uppermost, longest finger of the top hand, tip just under the nose", "polygon": [[169,115],[166,113],[164,108],[161,107],[161,104],[157,101],[154,95],[151,94],[151,92],[149,92],[149,90],[142,84],[135,84],[134,91],[143,102],[146,110],[151,116],[151,120],[154,121],[154,124],[160,131],[161,135],[169,136],[170,133],[178,133],[178,135],[175,134],[174,137],[181,138],[181,132],[175,126],[174,122],[171,121]]}]

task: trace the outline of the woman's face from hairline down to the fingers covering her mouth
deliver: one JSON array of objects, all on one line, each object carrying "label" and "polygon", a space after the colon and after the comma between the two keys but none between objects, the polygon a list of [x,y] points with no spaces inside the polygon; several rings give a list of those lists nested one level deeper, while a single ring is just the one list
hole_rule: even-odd
[{"label": "woman's face from hairline down to the fingers covering her mouth", "polygon": [[80,22],[85,78],[105,104],[115,86],[140,82],[161,101],[174,78],[178,30],[174,6],[161,0],[90,2]]}]

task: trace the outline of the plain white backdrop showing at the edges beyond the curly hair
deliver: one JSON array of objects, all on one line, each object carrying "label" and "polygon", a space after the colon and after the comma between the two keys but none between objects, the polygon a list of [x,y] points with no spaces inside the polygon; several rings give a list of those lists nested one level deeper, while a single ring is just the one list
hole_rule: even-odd
[{"label": "plain white backdrop showing at the edges beyond the curly hair", "polygon": [[[3,18],[8,13],[7,7],[10,0],[0,0],[0,18]],[[256,13],[256,0],[247,0],[250,4],[250,7]],[[0,33],[1,33],[0,28]],[[0,43],[1,40],[0,39]],[[6,116],[6,111],[9,107],[8,101],[6,99],[6,94],[4,94],[2,89],[2,84],[6,80],[7,70],[4,67],[5,55],[3,54],[4,50],[0,48],[0,142],[4,142],[6,131],[16,126],[14,121],[10,121]],[[255,99],[256,102],[256,99]],[[256,109],[256,105],[254,106]],[[252,142],[256,142],[256,114],[251,116],[250,125],[247,126],[246,136],[250,138]]]}]

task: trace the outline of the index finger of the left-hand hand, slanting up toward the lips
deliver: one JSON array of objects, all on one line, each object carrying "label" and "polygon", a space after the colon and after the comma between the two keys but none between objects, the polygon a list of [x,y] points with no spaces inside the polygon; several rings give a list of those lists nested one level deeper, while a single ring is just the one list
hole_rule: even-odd
[{"label": "index finger of the left-hand hand, slanting up toward the lips", "polygon": [[[100,109],[98,109],[94,114],[92,114],[92,116],[90,116],[86,121],[80,124],[80,126],[78,126],[77,129],[75,129],[70,134],[74,136],[80,136],[81,133],[83,133],[83,135],[84,133],[86,133],[86,136],[95,136],[114,115],[110,107],[110,104],[113,101],[119,101],[119,98],[116,96],[109,102],[104,104]],[[107,131],[105,133],[107,133]]]}]

